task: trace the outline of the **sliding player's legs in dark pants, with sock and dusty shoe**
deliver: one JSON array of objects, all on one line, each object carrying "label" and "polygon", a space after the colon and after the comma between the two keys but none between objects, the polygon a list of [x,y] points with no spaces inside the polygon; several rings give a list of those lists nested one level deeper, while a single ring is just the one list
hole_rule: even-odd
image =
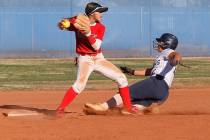
[{"label": "sliding player's legs in dark pants, with sock and dusty shoe", "polygon": [[[150,85],[148,87],[148,85]],[[152,88],[149,90],[148,88]],[[168,87],[164,81],[146,79],[129,86],[133,106],[139,111],[158,112],[158,106],[168,97]],[[119,94],[115,94],[111,99],[99,104],[86,104],[92,112],[107,111],[110,108],[122,105],[123,101]]]}]

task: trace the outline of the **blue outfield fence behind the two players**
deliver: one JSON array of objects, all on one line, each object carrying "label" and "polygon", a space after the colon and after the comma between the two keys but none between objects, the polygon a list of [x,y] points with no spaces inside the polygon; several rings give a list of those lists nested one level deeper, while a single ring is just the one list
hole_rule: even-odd
[{"label": "blue outfield fence behind the two players", "polygon": [[[1,58],[75,56],[74,33],[60,31],[64,17],[84,12],[89,0],[1,0]],[[152,41],[164,32],[179,38],[184,56],[210,56],[208,0],[98,0],[109,7],[102,44],[107,57],[153,56]]]}]

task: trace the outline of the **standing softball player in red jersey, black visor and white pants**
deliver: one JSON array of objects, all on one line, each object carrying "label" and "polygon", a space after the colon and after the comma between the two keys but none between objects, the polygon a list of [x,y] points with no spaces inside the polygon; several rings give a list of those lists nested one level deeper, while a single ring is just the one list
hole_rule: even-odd
[{"label": "standing softball player in red jersey, black visor and white pants", "polygon": [[[69,19],[69,31],[74,31],[76,36],[76,52],[78,56],[77,79],[73,86],[66,92],[57,114],[64,114],[64,109],[81,93],[87,83],[90,74],[98,71],[106,77],[116,81],[119,86],[119,93],[122,97],[124,107],[128,112],[132,112],[128,82],[126,76],[115,65],[106,60],[102,54],[101,44],[104,37],[105,26],[101,23],[102,12],[106,12],[107,7],[98,3],[88,3],[85,14],[90,21],[90,31],[82,32],[76,28],[77,17]],[[72,26],[73,25],[73,26]]]}]

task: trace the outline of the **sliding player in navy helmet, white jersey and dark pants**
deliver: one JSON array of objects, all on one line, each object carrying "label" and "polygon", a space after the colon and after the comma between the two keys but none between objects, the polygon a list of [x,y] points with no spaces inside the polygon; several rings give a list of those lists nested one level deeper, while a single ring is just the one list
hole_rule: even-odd
[{"label": "sliding player in navy helmet, white jersey and dark pants", "polygon": [[[164,33],[160,38],[156,38],[153,44],[154,49],[159,54],[155,58],[152,68],[138,71],[121,67],[121,70],[129,75],[150,76],[148,79],[129,86],[132,105],[141,114],[146,111],[158,113],[158,106],[168,98],[176,65],[181,61],[181,55],[175,51],[178,45],[176,36]],[[87,114],[106,114],[108,109],[120,106],[121,104],[122,98],[119,94],[116,94],[104,103],[86,103],[84,112]],[[124,114],[125,112],[121,113]]]}]

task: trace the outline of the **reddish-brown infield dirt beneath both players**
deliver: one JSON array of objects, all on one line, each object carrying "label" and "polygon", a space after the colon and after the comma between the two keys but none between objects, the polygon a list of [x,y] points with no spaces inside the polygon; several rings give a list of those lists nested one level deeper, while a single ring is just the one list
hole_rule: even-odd
[{"label": "reddish-brown infield dirt beneath both players", "polygon": [[[5,105],[55,109],[65,91],[0,91]],[[1,140],[207,140],[210,139],[210,88],[172,89],[158,115],[84,115],[85,102],[100,102],[115,91],[85,91],[60,119],[46,116],[0,118]]]}]

